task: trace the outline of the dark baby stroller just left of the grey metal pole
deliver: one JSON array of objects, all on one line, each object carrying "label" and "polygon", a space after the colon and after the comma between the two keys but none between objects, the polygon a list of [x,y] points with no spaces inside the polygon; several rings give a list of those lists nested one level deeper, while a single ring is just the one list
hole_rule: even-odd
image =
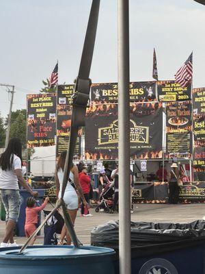
[{"label": "dark baby stroller just left of the grey metal pole", "polygon": [[103,188],[100,195],[100,203],[95,209],[95,212],[99,212],[100,209],[104,209],[105,213],[109,213],[113,206],[113,194],[114,194],[114,182],[109,182]]}]

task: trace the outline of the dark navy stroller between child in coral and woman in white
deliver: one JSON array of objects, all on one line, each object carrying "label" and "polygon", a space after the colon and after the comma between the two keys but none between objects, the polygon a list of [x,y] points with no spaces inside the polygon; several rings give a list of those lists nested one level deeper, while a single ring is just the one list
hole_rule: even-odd
[{"label": "dark navy stroller between child in coral and woman in white", "polygon": [[[51,213],[51,211],[47,210],[43,210],[43,212],[44,216]],[[64,218],[59,214],[59,212],[55,212],[55,214],[51,216],[44,225],[44,245],[57,245],[57,240],[59,240],[57,234],[61,234],[63,226]]]}]

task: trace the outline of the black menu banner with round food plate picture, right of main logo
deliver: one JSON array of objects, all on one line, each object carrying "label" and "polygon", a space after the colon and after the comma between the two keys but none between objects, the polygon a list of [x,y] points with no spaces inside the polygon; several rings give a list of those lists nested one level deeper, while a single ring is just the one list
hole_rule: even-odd
[{"label": "black menu banner with round food plate picture, right of main logo", "polygon": [[166,151],[169,157],[191,158],[191,101],[167,103]]}]

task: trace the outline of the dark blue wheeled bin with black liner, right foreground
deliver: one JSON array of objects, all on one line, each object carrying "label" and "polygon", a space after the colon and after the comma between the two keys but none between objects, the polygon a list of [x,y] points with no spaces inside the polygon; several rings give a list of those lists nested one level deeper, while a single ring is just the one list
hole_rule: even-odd
[{"label": "dark blue wheeled bin with black liner, right foreground", "polygon": [[[119,273],[119,222],[94,227],[91,244],[116,251]],[[132,274],[205,273],[205,221],[192,223],[131,223]]]}]

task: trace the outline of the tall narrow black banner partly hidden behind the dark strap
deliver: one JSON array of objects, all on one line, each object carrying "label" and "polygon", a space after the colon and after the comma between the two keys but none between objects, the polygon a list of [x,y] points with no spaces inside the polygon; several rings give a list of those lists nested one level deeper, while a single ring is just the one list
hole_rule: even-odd
[{"label": "tall narrow black banner partly hidden behind the dark strap", "polygon": [[[68,141],[70,138],[71,99],[74,85],[59,85],[57,87],[57,147],[56,155],[68,149]],[[81,130],[74,149],[74,160],[81,158]]]}]

